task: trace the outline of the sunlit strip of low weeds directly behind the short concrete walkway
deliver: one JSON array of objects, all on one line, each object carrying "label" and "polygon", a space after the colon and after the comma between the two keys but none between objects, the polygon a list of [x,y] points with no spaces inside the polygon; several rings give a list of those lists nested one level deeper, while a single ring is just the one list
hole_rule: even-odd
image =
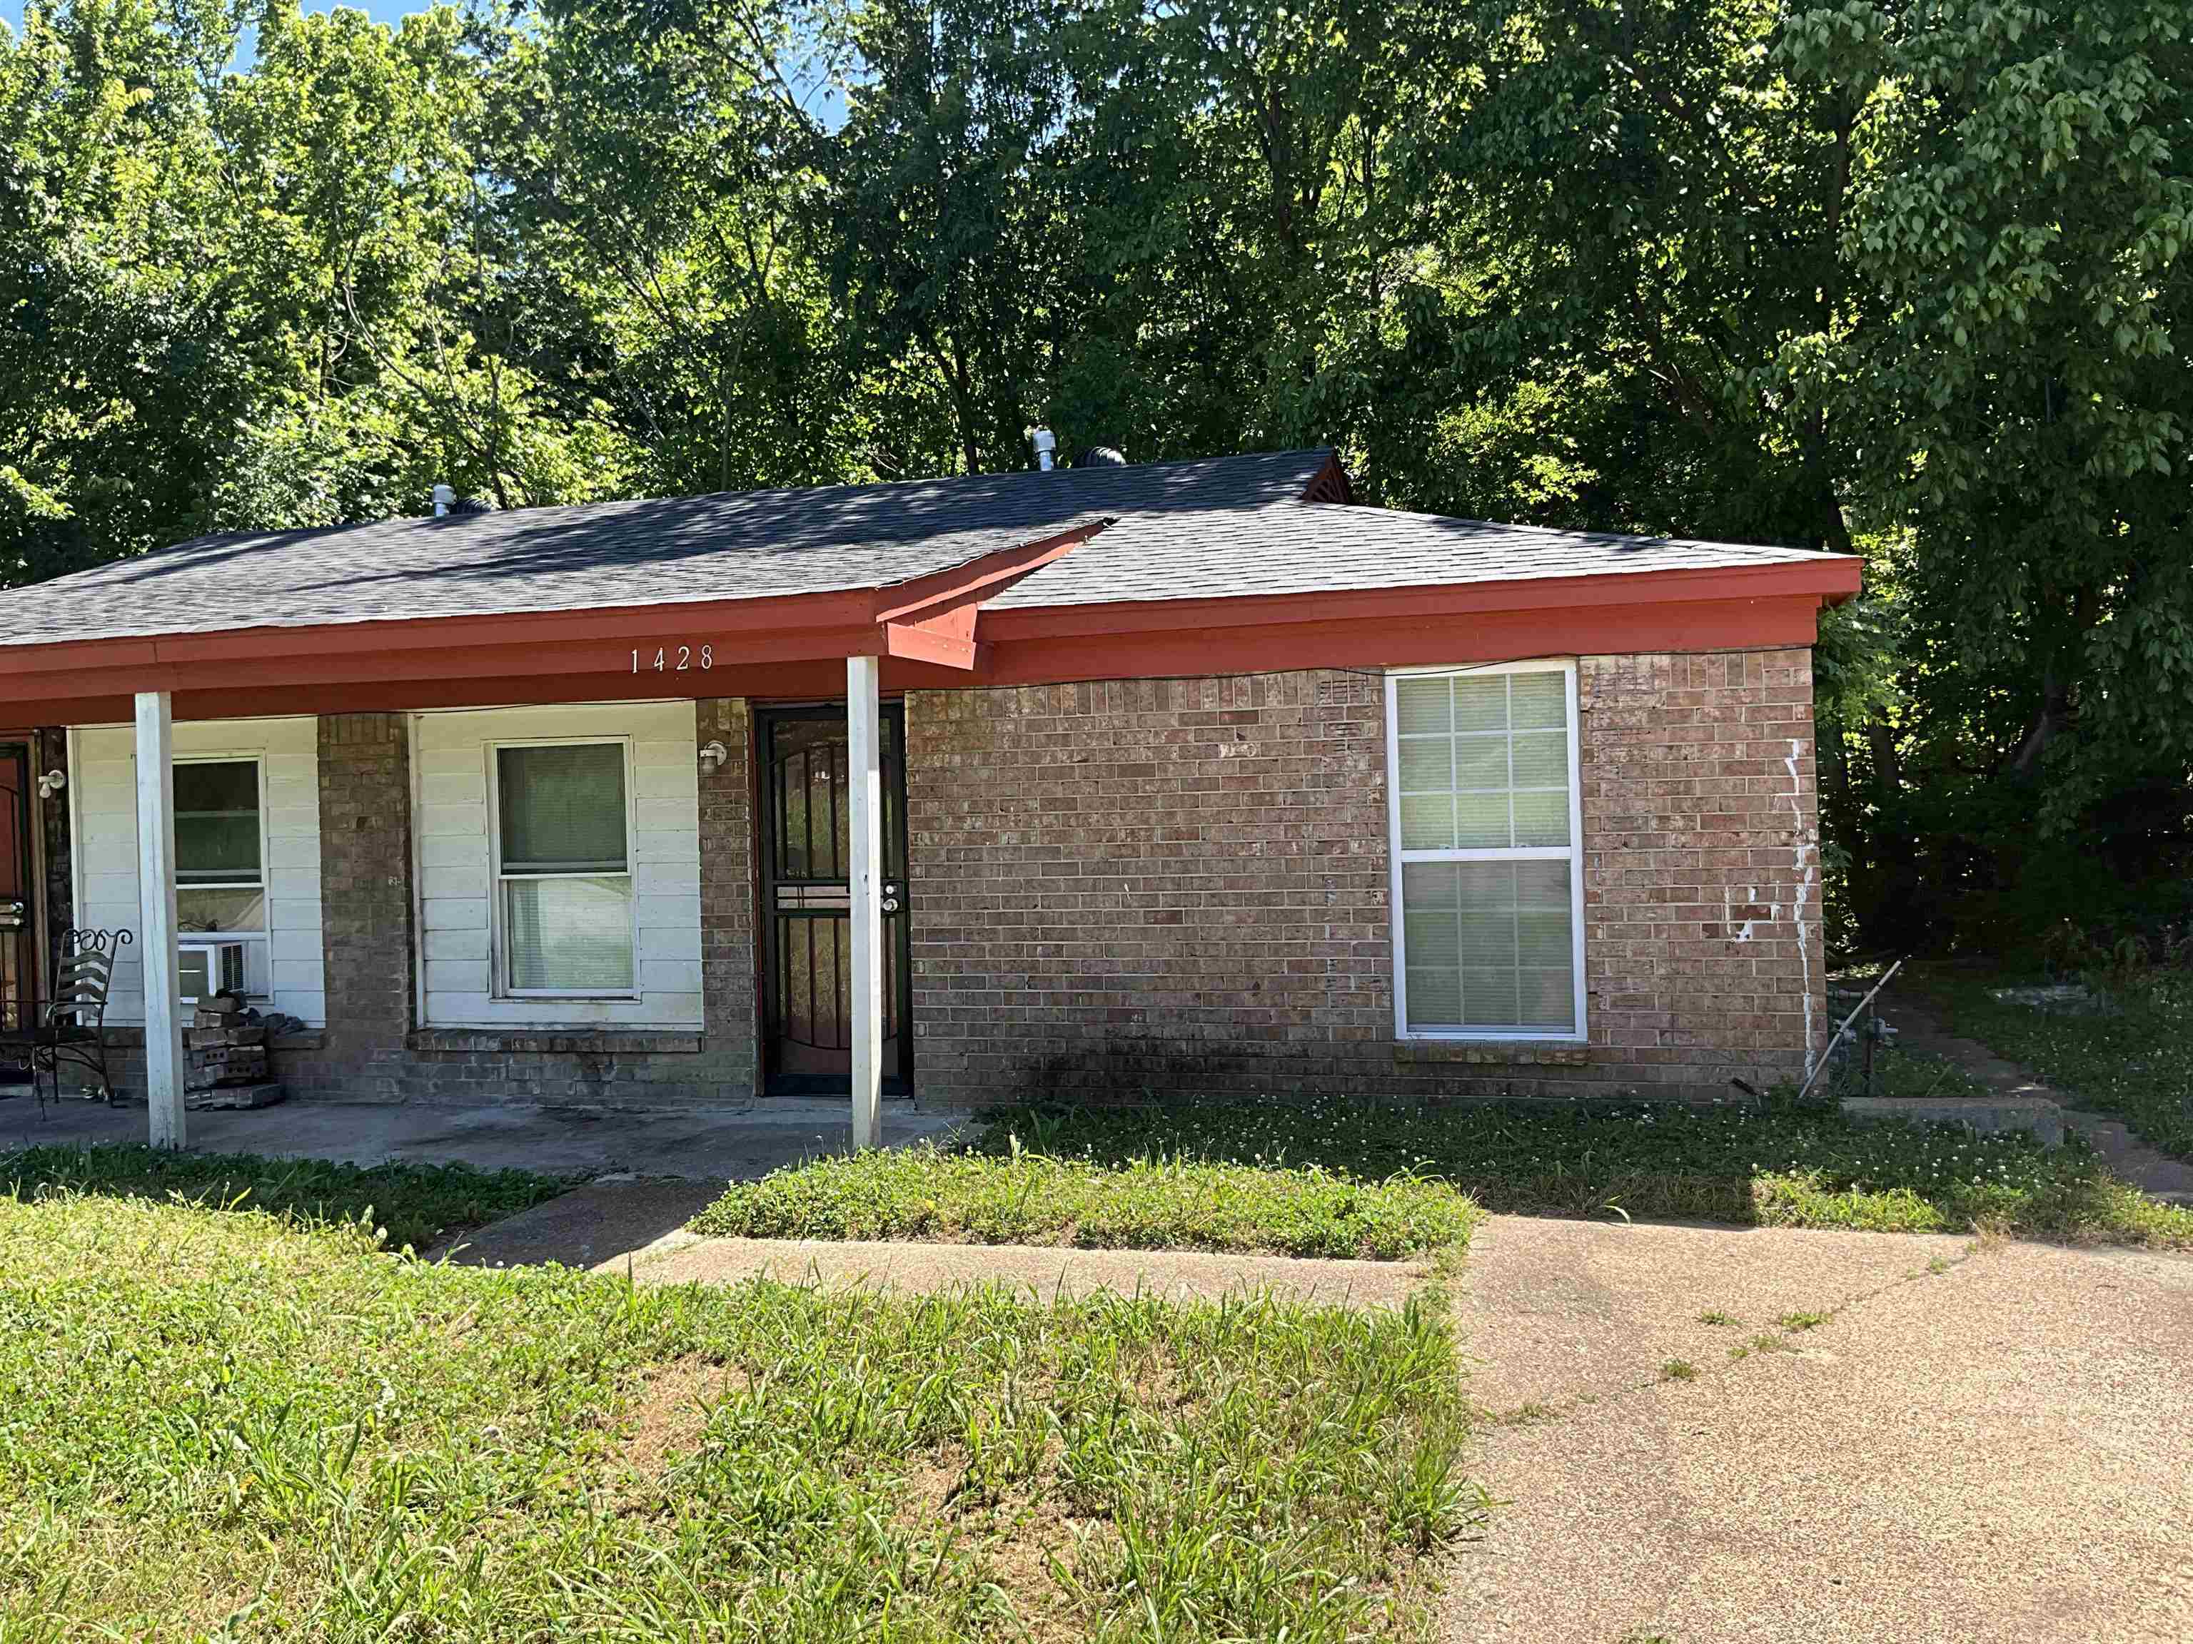
[{"label": "sunlit strip of low weeds directly behind the short concrete walkway", "polygon": [[923,1142],[735,1181],[693,1228],[748,1238],[950,1238],[1395,1260],[1463,1243],[1476,1214],[1450,1184],[1406,1171],[1368,1177],[1320,1160],[1226,1160],[1162,1146],[1096,1160],[1020,1146],[1004,1127],[971,1151]]}]

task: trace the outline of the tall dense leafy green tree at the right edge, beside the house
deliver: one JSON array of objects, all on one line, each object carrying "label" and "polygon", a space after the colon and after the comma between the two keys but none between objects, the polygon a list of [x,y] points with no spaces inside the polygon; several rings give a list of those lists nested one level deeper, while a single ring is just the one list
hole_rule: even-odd
[{"label": "tall dense leafy green tree at the right edge, beside the house", "polygon": [[1853,899],[1875,940],[2031,940],[2193,833],[2184,9],[1849,0],[1781,50],[1857,110],[1862,294],[1781,364],[1908,629],[1825,739]]}]

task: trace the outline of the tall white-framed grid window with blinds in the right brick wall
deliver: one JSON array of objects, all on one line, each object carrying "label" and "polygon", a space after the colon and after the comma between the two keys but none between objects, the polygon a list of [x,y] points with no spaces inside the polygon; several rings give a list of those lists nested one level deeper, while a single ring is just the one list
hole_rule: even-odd
[{"label": "tall white-framed grid window with blinds in the right brick wall", "polygon": [[1386,675],[1401,1039],[1572,1039],[1583,1021],[1575,662]]}]

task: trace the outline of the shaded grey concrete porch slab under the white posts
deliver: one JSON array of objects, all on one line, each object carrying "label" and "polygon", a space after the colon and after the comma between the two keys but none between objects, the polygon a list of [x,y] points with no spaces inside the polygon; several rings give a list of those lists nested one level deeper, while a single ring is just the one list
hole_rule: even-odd
[{"label": "shaded grey concrete porch slab under the white posts", "polygon": [[[965,1114],[884,1109],[884,1144],[941,1138]],[[721,1186],[851,1144],[842,1100],[765,1100],[750,1107],[406,1107],[283,1103],[257,1111],[191,1114],[193,1153],[263,1153],[346,1164],[469,1164],[542,1175],[686,1177]],[[145,1107],[0,1100],[0,1151],[145,1142]]]}]

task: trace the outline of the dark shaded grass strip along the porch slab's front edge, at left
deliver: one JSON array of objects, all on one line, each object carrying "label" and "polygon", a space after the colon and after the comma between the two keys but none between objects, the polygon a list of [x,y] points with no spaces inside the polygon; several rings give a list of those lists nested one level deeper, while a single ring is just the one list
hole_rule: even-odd
[{"label": "dark shaded grass strip along the porch slab's front edge, at left", "polygon": [[178,1199],[213,1210],[268,1210],[307,1223],[377,1228],[393,1249],[425,1249],[572,1188],[570,1177],[474,1171],[469,1164],[329,1164],[257,1153],[151,1146],[35,1146],[0,1153],[0,1192]]}]

